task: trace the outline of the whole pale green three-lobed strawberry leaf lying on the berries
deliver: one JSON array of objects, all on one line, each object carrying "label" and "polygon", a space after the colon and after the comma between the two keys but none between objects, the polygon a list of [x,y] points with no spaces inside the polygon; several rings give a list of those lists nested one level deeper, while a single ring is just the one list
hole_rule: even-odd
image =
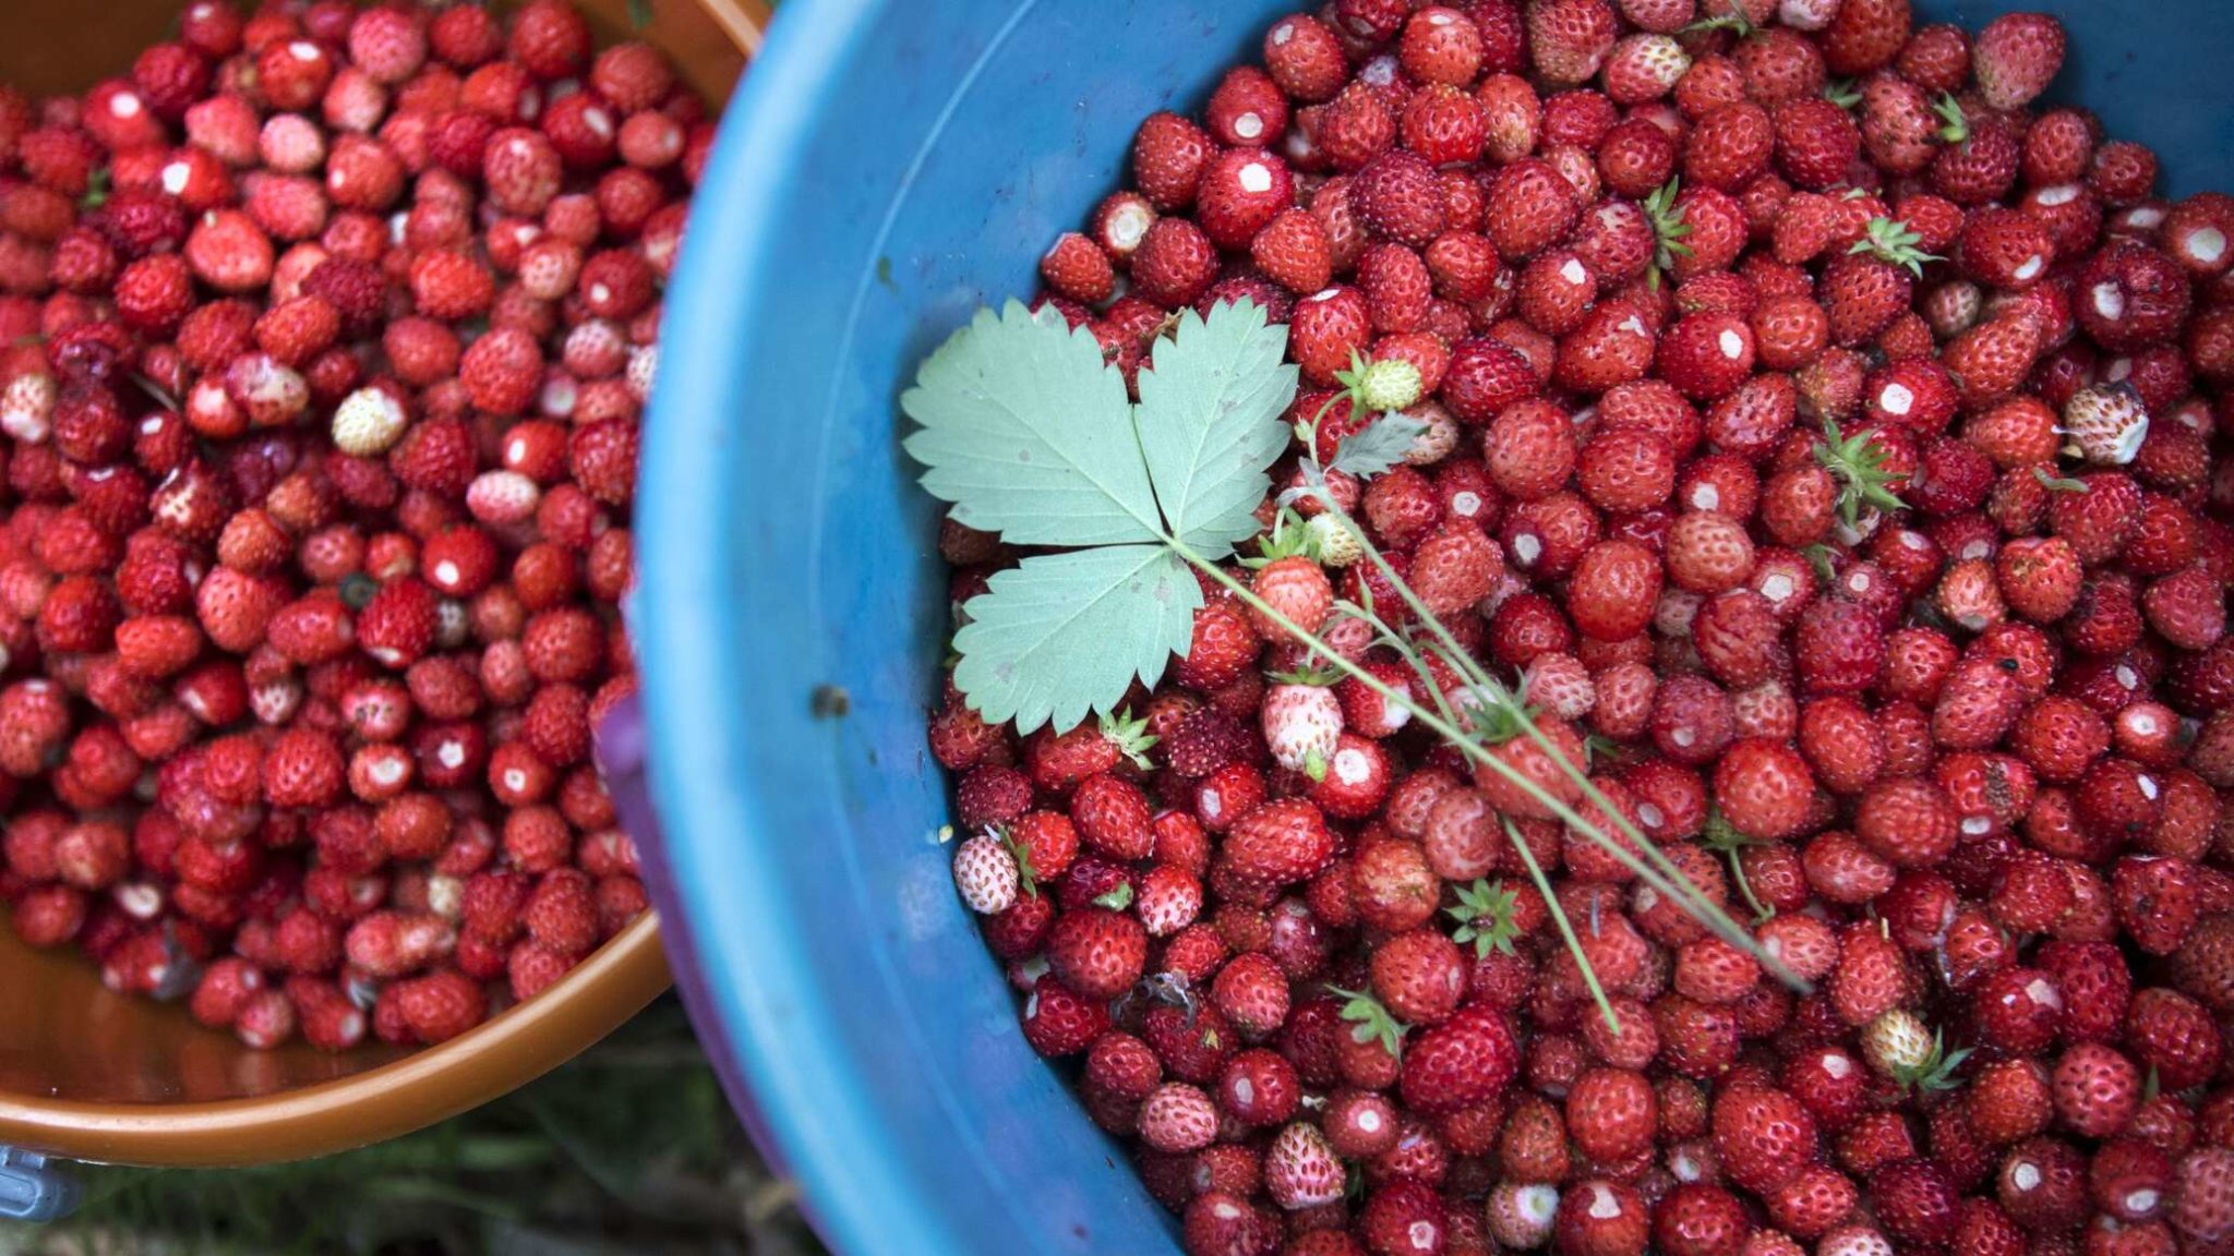
[{"label": "whole pale green three-lobed strawberry leaf lying on the berries", "polygon": [[1061,548],[999,572],[963,608],[954,684],[1021,731],[1108,715],[1193,639],[1202,588],[1258,532],[1296,396],[1287,329],[1253,304],[1193,313],[1157,340],[1139,405],[1088,331],[1010,302],[978,311],[916,375],[907,451],[954,518]]}]

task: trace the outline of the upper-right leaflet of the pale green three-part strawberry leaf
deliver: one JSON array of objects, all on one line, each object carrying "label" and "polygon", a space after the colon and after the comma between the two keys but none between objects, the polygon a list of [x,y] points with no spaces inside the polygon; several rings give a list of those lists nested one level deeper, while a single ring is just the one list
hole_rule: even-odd
[{"label": "upper-right leaflet of the pale green three-part strawberry leaf", "polygon": [[1271,487],[1264,469],[1287,449],[1280,416],[1296,398],[1296,367],[1282,358],[1287,326],[1267,324],[1253,302],[1215,306],[1209,320],[1186,311],[1155,342],[1133,420],[1180,543],[1224,554],[1258,534],[1256,507]]}]

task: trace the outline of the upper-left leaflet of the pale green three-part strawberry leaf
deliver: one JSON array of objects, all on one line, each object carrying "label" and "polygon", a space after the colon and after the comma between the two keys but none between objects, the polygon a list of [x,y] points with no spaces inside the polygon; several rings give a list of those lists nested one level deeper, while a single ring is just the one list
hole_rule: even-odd
[{"label": "upper-left leaflet of the pale green three-part strawberry leaf", "polygon": [[[1164,521],[1133,434],[1124,375],[1063,315],[1021,302],[938,346],[900,396],[907,451],[954,521],[1012,545],[1135,545]],[[1269,458],[1267,458],[1269,463]]]}]

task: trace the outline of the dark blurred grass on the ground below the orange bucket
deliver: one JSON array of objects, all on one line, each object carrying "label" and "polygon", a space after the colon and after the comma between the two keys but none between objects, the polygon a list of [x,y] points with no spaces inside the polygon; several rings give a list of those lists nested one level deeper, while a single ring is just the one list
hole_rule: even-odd
[{"label": "dark blurred grass on the ground below the orange bucket", "polygon": [[663,999],[550,1077],[380,1146],[261,1169],[83,1169],[0,1256],[815,1256]]}]

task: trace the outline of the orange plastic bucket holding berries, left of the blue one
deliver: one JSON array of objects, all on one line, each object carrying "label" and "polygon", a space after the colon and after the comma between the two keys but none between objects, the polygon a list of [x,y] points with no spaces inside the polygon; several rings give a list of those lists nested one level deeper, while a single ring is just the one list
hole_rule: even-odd
[{"label": "orange plastic bucket holding berries, left of the blue one", "polygon": [[[9,4],[0,80],[92,85],[165,38],[185,0]],[[719,105],[760,49],[766,0],[576,0],[603,38],[661,47]],[[630,9],[650,22],[634,29]],[[442,1046],[250,1050],[181,1006],[112,995],[80,957],[0,927],[0,1144],[123,1164],[257,1164],[324,1155],[433,1124],[579,1055],[668,988],[652,916],[543,997]]]}]

